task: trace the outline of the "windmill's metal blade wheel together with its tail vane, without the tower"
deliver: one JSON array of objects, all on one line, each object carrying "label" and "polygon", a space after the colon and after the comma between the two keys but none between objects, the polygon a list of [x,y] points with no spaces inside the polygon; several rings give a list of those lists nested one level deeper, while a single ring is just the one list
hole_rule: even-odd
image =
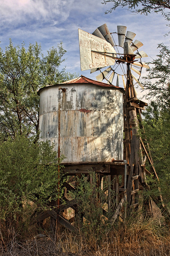
[{"label": "windmill's metal blade wheel together with its tail vane, without the tower", "polygon": [[[92,34],[79,29],[81,70],[91,69],[91,73],[100,70],[96,79],[100,82],[106,80],[108,84],[116,86],[119,86],[121,77],[125,88],[129,69],[133,80],[142,87],[139,82],[141,70],[149,66],[141,58],[148,55],[138,51],[143,44],[138,40],[133,42],[136,34],[126,32],[126,29],[126,26],[117,26],[117,32],[110,33],[106,24],[98,27]],[[124,64],[127,64],[127,70]]]}]

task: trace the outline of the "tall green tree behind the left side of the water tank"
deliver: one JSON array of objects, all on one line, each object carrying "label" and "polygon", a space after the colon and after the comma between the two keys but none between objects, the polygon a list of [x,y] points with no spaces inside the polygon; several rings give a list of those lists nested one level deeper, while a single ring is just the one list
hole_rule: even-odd
[{"label": "tall green tree behind the left side of the water tank", "polygon": [[24,43],[13,46],[10,40],[5,52],[0,48],[0,131],[5,137],[38,134],[37,90],[75,77],[65,68],[59,70],[65,52],[62,43],[49,49],[46,56],[37,43],[26,50]]}]

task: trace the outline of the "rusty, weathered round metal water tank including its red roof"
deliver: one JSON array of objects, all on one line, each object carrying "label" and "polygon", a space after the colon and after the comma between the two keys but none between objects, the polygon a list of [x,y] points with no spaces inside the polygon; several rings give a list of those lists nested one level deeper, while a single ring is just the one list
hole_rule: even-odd
[{"label": "rusty, weathered round metal water tank including its red roof", "polygon": [[84,76],[39,90],[39,140],[57,151],[59,86],[63,163],[123,160],[123,89]]}]

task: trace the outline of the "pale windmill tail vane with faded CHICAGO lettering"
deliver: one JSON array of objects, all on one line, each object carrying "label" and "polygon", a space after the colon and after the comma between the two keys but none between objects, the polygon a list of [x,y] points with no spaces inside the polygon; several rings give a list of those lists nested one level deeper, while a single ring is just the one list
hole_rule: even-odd
[{"label": "pale windmill tail vane with faded CHICAGO lettering", "polygon": [[[108,55],[115,56],[116,52],[109,42],[81,29],[78,29],[78,35],[82,71],[114,65],[115,59],[109,58]],[[101,55],[100,52],[106,53],[106,55]]]}]

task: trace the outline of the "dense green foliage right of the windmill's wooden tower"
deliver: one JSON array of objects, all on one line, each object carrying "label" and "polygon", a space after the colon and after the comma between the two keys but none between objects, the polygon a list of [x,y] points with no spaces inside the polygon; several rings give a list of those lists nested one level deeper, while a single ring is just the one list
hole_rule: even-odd
[{"label": "dense green foliage right of the windmill's wooden tower", "polygon": [[[160,179],[161,194],[164,203],[170,208],[170,110],[160,107],[159,102],[152,101],[143,113],[145,135],[149,142],[154,167]],[[152,182],[151,186],[158,184]],[[155,191],[155,188],[154,188]],[[159,191],[157,190],[158,194]]]}]

